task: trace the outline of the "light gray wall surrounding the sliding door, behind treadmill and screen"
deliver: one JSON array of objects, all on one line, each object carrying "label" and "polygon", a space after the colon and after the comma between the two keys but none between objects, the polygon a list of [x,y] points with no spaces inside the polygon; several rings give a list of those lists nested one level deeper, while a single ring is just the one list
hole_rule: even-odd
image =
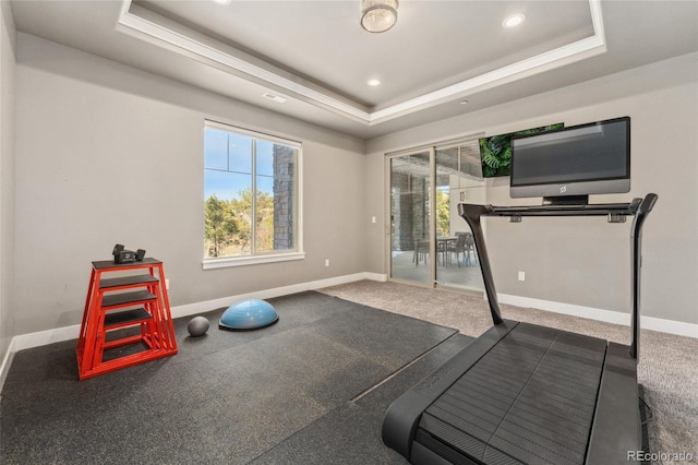
[{"label": "light gray wall surrounding the sliding door, behind treadmill and screen", "polygon": [[[659,201],[643,231],[642,314],[698,323],[698,55],[534,95],[461,117],[369,141],[369,208],[385,198],[384,153],[459,134],[498,134],[564,121],[567,126],[630,116],[633,187],[626,201],[648,192]],[[376,171],[381,170],[381,175]],[[508,178],[488,181],[486,201],[514,204]],[[519,204],[540,202],[517,200]],[[381,212],[381,218],[385,218]],[[384,223],[383,223],[384,224]],[[513,225],[486,219],[497,291],[533,299],[628,312],[629,223],[600,218],[528,218]],[[368,233],[370,272],[385,272],[385,234]],[[517,281],[518,271],[526,282]]]}]

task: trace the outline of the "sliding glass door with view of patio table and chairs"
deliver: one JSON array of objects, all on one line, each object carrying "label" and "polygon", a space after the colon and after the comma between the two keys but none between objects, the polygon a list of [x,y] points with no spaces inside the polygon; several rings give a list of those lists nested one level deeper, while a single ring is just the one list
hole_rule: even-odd
[{"label": "sliding glass door with view of patio table and chairs", "polygon": [[477,139],[388,157],[389,276],[423,286],[482,289],[458,203],[484,202]]}]

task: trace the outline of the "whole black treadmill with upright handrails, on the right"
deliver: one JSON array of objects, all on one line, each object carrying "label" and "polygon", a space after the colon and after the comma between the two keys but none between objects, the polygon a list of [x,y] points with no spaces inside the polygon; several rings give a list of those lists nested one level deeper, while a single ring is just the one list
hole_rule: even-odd
[{"label": "whole black treadmill with upright handrails, on the right", "polygon": [[[383,442],[412,464],[627,464],[642,449],[637,385],[642,224],[657,194],[630,203],[461,203],[494,325],[388,407]],[[629,346],[503,320],[480,219],[633,216]],[[633,452],[633,454],[630,453]]]}]

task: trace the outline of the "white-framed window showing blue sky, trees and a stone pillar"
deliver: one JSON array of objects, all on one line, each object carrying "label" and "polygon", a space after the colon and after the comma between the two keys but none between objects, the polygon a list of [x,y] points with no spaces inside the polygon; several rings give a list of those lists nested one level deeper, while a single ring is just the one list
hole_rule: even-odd
[{"label": "white-framed window showing blue sky, trees and a stone pillar", "polygon": [[302,258],[301,145],[206,121],[204,267]]}]

